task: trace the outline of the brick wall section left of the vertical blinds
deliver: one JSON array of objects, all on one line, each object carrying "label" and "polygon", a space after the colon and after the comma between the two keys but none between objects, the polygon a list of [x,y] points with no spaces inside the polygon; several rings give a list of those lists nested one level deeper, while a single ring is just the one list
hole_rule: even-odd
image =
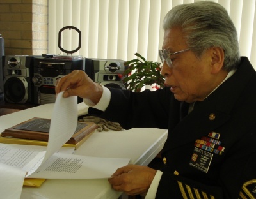
[{"label": "brick wall section left of the vertical blinds", "polygon": [[5,55],[47,53],[47,0],[0,0]]}]

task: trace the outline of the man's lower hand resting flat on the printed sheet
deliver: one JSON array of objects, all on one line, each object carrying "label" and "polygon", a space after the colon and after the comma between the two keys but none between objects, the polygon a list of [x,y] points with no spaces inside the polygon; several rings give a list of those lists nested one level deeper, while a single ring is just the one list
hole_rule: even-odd
[{"label": "man's lower hand resting flat on the printed sheet", "polygon": [[127,165],[118,168],[108,181],[116,191],[137,195],[148,191],[156,172],[147,166]]}]

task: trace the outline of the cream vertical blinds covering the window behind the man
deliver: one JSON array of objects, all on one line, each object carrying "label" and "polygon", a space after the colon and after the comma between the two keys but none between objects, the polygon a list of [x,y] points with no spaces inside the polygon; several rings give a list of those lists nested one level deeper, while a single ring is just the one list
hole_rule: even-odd
[{"label": "cream vertical blinds covering the window behind the man", "polygon": [[[164,15],[179,4],[196,0],[51,0],[49,1],[49,53],[61,54],[58,34],[75,26],[82,34],[81,48],[74,55],[97,59],[134,59],[138,52],[148,61],[159,61],[163,43]],[[232,18],[239,36],[241,55],[256,68],[255,0],[215,0]],[[66,29],[61,47],[74,50],[78,34]]]}]

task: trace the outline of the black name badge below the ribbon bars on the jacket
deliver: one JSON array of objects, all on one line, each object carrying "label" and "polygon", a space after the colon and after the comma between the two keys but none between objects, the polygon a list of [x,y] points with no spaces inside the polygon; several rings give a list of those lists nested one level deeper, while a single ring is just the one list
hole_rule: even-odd
[{"label": "black name badge below the ribbon bars on the jacket", "polygon": [[211,165],[212,157],[213,154],[195,147],[189,165],[207,173]]}]

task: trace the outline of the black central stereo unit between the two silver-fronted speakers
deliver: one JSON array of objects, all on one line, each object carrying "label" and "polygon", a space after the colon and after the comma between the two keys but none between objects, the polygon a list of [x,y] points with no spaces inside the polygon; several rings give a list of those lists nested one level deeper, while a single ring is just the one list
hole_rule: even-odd
[{"label": "black central stereo unit between the two silver-fronted speakers", "polygon": [[[35,58],[34,75],[34,103],[43,105],[54,103],[56,99],[56,80],[73,70],[84,71],[84,57],[54,56]],[[78,99],[79,102],[82,99]]]}]

